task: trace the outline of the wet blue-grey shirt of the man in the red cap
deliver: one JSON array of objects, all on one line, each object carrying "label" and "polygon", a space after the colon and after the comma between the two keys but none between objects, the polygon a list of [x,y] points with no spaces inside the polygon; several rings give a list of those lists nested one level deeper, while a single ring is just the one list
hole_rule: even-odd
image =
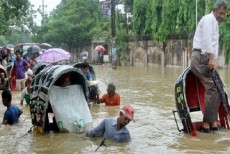
[{"label": "wet blue-grey shirt of the man in the red cap", "polygon": [[104,119],[96,128],[87,132],[88,137],[104,137],[117,142],[131,141],[129,130],[123,126],[119,131],[117,127],[117,118]]}]

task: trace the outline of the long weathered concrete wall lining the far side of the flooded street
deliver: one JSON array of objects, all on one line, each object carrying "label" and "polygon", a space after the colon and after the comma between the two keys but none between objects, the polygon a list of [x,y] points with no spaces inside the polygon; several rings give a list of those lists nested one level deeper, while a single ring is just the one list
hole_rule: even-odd
[{"label": "long weathered concrete wall lining the far side of the flooded street", "polygon": [[[81,60],[80,53],[83,49],[89,52],[88,62],[93,63],[93,51],[94,45],[73,48],[71,52],[71,62],[78,62]],[[107,54],[111,57],[111,45],[107,46]],[[190,59],[192,54],[192,42],[185,39],[167,40],[165,45],[165,51],[163,45],[155,43],[153,41],[138,41],[129,42],[125,56],[125,62],[122,61],[122,65],[130,66],[190,66]],[[218,66],[224,67],[224,52],[220,53],[218,58]]]}]

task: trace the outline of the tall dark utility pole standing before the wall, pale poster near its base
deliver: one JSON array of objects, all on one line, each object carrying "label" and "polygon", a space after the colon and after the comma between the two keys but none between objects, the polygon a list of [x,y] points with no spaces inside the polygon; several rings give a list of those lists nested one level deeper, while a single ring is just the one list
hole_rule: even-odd
[{"label": "tall dark utility pole standing before the wall, pale poster near its base", "polygon": [[117,49],[116,49],[116,23],[115,23],[115,0],[111,0],[111,29],[112,29],[112,68],[117,68]]}]

